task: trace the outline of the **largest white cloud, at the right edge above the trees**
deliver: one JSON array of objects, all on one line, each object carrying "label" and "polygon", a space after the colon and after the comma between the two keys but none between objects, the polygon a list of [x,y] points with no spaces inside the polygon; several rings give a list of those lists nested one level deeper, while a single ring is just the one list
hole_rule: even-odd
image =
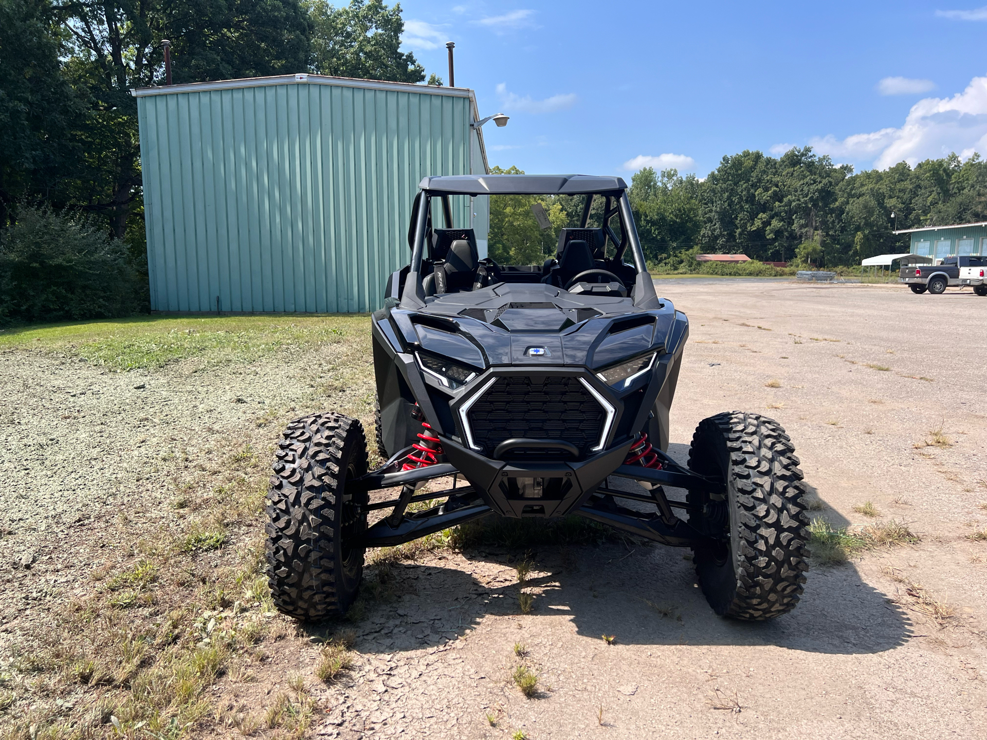
[{"label": "largest white cloud, at the right edge above the trees", "polygon": [[951,98],[925,98],[908,111],[900,128],[857,133],[845,139],[822,136],[809,140],[821,154],[841,159],[870,160],[879,170],[905,161],[916,165],[925,159],[958,152],[987,154],[987,77],[974,77],[962,93]]}]

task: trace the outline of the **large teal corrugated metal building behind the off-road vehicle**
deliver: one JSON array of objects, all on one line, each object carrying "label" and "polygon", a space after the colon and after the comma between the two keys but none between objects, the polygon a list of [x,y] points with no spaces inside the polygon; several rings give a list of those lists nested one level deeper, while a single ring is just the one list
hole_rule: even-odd
[{"label": "large teal corrugated metal building behind the off-road vehicle", "polygon": [[[297,74],[132,91],[155,311],[365,312],[428,175],[488,172],[464,88]],[[486,197],[453,203],[486,256]]]}]

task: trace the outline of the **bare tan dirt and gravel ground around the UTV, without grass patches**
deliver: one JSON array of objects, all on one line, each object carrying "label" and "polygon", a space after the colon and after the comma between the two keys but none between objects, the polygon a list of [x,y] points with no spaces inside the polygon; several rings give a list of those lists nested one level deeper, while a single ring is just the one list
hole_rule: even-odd
[{"label": "bare tan dirt and gravel ground around the UTV, without grass patches", "polygon": [[[672,455],[684,460],[698,421],[718,411],[773,416],[822,502],[814,516],[837,528],[897,519],[921,543],[813,562],[795,612],[764,624],[716,617],[679,550],[419,553],[390,566],[394,597],[351,625],[355,665],[341,681],[312,675],[319,639],[338,626],[285,620],[253,680],[217,678],[217,711],[261,712],[300,675],[317,707],[307,734],[347,740],[987,738],[987,542],[968,537],[987,529],[987,299],[788,281],[657,287],[691,324]],[[365,383],[327,385],[332,346],[317,356],[138,377],[0,353],[0,645],[52,600],[92,588],[77,576],[90,561],[72,555],[105,535],[109,512],[171,521],[181,470],[165,447],[187,470],[217,440],[269,447],[264,407],[279,423],[291,407],[365,403]],[[153,428],[135,436],[133,424]],[[875,518],[855,511],[868,501]],[[525,557],[530,614],[518,605]],[[531,699],[511,680],[519,665],[539,677]]]}]

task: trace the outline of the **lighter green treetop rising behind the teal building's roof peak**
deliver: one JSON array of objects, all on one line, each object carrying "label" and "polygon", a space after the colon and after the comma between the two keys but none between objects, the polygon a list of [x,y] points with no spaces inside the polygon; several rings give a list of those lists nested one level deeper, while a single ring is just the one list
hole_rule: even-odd
[{"label": "lighter green treetop rising behind the teal building's roof peak", "polygon": [[313,23],[313,72],[393,82],[425,79],[415,55],[400,49],[405,30],[400,3],[388,8],[381,0],[351,0],[335,8],[326,0],[308,0],[306,8]]}]

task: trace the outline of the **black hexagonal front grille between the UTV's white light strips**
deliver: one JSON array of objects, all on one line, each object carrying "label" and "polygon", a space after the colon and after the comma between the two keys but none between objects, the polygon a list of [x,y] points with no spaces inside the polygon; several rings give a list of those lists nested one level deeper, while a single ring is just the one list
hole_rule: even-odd
[{"label": "black hexagonal front grille between the UTV's white light strips", "polygon": [[[505,439],[563,439],[582,455],[599,444],[606,414],[573,377],[498,378],[468,412],[473,441],[492,455]],[[510,457],[554,459],[554,450],[513,450]]]}]

